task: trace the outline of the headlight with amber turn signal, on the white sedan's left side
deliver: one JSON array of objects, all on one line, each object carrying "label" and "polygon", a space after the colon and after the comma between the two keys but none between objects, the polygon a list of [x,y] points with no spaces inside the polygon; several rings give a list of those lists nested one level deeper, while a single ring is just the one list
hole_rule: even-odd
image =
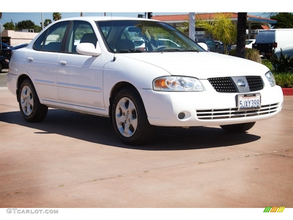
[{"label": "headlight with amber turn signal, on the white sedan's left side", "polygon": [[193,77],[166,76],[153,81],[155,91],[203,91],[200,81]]}]

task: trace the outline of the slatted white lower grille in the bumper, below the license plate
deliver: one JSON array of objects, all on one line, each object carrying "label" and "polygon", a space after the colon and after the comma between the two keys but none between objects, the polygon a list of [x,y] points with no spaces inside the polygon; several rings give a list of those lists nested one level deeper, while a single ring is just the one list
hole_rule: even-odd
[{"label": "slatted white lower grille in the bumper, below the license plate", "polygon": [[278,110],[279,103],[261,106],[258,110],[252,111],[238,111],[237,108],[231,109],[206,109],[197,110],[197,118],[200,120],[211,119],[230,119],[230,118],[242,118],[250,116],[258,116],[265,114],[272,114]]}]

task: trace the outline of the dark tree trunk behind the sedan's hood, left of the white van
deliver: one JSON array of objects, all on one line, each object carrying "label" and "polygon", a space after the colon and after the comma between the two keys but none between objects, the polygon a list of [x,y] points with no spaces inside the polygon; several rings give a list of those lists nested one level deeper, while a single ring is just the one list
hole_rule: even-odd
[{"label": "dark tree trunk behind the sedan's hood, left of the white van", "polygon": [[245,58],[247,12],[238,12],[236,56]]}]

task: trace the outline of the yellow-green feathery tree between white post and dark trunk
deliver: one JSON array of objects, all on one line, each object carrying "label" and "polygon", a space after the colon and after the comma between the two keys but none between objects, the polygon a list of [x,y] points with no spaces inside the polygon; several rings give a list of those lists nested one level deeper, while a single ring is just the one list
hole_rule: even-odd
[{"label": "yellow-green feathery tree between white post and dark trunk", "polygon": [[212,34],[212,37],[221,40],[224,44],[224,53],[227,53],[227,45],[233,44],[236,39],[236,27],[229,18],[229,14],[216,13],[214,20],[196,20],[195,26]]}]

